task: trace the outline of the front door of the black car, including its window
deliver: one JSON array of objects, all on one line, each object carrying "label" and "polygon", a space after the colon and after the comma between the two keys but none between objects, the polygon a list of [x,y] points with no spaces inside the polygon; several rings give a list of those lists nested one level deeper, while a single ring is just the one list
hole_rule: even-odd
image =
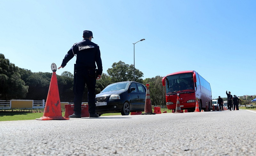
[{"label": "front door of the black car, including its window", "polygon": [[131,85],[130,85],[130,89],[131,88],[135,88],[135,90],[133,90],[131,93],[130,93],[130,96],[131,96],[131,108],[133,110],[138,110],[140,109],[140,93],[138,91],[138,88],[137,88],[137,85],[136,83],[132,82]]}]

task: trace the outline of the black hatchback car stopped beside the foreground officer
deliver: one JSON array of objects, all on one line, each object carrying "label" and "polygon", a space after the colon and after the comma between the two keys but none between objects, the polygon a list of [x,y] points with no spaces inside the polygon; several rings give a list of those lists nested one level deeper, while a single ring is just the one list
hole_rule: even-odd
[{"label": "black hatchback car stopped beside the foreground officer", "polygon": [[121,113],[144,111],[146,87],[138,82],[117,82],[108,85],[96,95],[96,113]]}]

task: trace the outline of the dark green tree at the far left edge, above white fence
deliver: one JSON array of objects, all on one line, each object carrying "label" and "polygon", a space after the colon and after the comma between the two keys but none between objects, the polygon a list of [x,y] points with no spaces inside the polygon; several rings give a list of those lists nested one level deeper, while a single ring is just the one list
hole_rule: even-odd
[{"label": "dark green tree at the far left edge, above white fence", "polygon": [[0,53],[0,99],[23,99],[28,93],[28,86],[21,79],[19,67]]}]

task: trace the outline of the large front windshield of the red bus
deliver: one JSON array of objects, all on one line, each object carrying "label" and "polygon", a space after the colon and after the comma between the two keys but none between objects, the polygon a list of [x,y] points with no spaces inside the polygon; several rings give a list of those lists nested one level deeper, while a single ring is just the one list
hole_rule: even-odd
[{"label": "large front windshield of the red bus", "polygon": [[194,92],[192,73],[169,75],[166,77],[166,94],[172,95],[177,93]]}]

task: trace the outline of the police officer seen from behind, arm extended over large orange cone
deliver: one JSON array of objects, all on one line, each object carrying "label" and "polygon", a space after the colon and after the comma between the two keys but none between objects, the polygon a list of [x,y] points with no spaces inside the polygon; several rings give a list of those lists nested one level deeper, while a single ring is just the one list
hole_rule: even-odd
[{"label": "police officer seen from behind, arm extended over large orange cone", "polygon": [[[101,78],[102,62],[100,58],[100,48],[92,42],[92,32],[85,30],[83,32],[83,40],[75,43],[68,53],[65,55],[61,66],[63,68],[68,61],[76,56],[76,64],[74,67],[74,114],[70,118],[81,118],[81,104],[85,84],[88,88],[88,105],[90,117],[99,117],[95,112],[95,85],[96,80]],[[98,70],[95,73],[96,65]]]}]

